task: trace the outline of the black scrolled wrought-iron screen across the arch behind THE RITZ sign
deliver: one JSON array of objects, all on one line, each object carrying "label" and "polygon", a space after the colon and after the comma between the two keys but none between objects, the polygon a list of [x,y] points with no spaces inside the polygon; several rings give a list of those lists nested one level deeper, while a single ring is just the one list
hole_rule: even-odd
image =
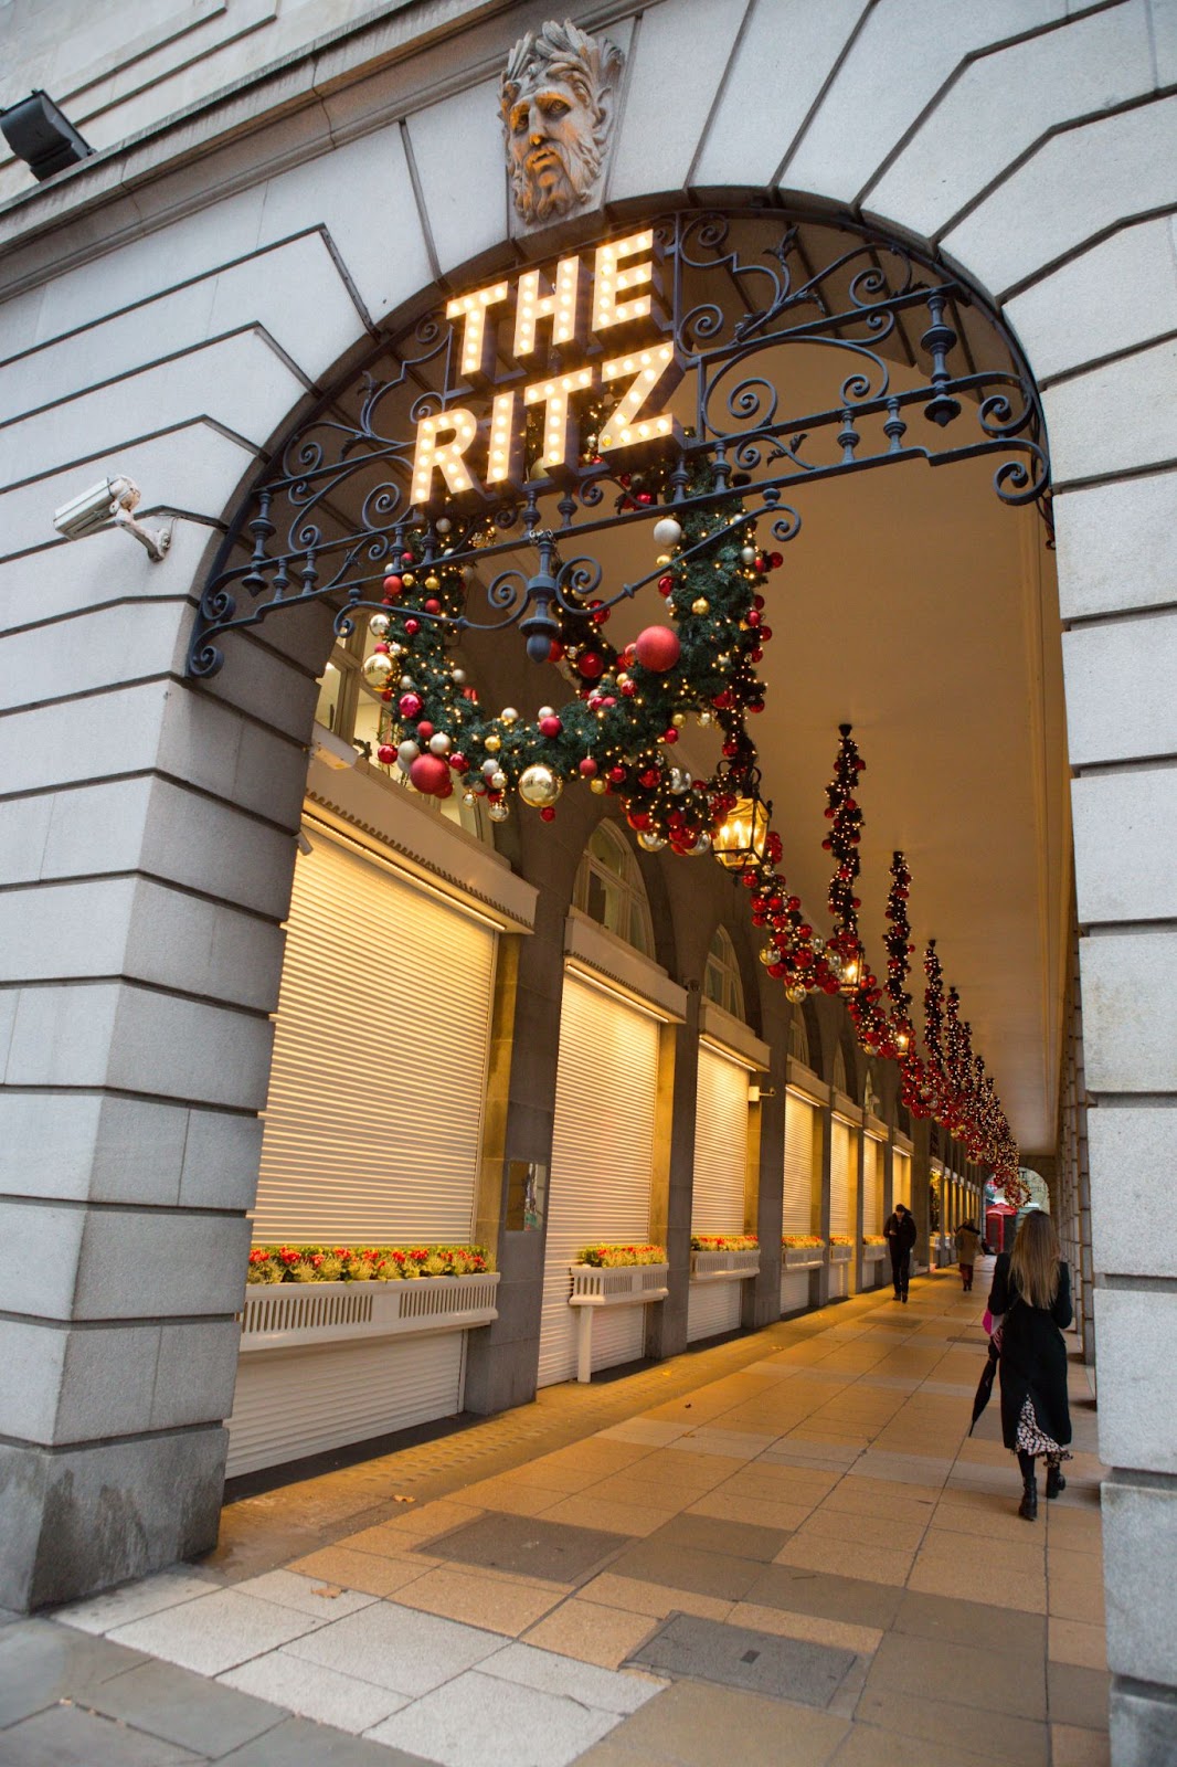
[{"label": "black scrolled wrought-iron screen across the arch behind THE RITZ sign", "polygon": [[[200,599],[189,675],[214,675],[226,633],[283,608],[338,603],[338,629],[361,608],[378,610],[387,564],[410,542],[424,569],[440,560],[467,569],[472,590],[459,613],[419,618],[452,633],[518,626],[544,657],[553,606],[576,613],[592,597],[610,608],[657,578],[654,567],[603,592],[601,565],[573,551],[606,528],[666,514],[633,488],[650,445],[672,468],[677,514],[739,498],[732,527],[767,514],[778,542],[801,527],[786,498],[802,486],[912,459],[993,456],[997,497],[1046,511],[1032,376],[1000,322],[942,267],[855,224],[779,209],[686,209],[657,217],[650,233],[663,276],[652,322],[677,380],[670,436],[604,447],[619,399],[592,387],[594,364],[610,355],[592,330],[530,364],[491,346],[470,375],[461,302],[442,304],[325,398],[249,491]],[[523,389],[535,360],[541,378],[583,369],[596,426],[583,447],[546,468],[543,424],[532,421],[514,438],[523,456],[514,484],[414,505],[421,421],[474,408],[490,426],[493,394]],[[795,376],[801,360],[806,373]]]}]

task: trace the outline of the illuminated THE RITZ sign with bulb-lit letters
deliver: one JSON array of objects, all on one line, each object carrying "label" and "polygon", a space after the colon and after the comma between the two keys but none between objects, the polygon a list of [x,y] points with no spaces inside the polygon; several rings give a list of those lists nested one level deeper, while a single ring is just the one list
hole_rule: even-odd
[{"label": "illuminated THE RITZ sign with bulb-lit letters", "polygon": [[[417,424],[412,500],[437,507],[445,497],[518,491],[527,475],[523,436],[527,413],[543,410],[543,452],[532,472],[558,477],[574,466],[580,433],[578,403],[617,385],[617,405],[601,422],[597,449],[611,454],[679,433],[664,410],[682,378],[675,346],[663,330],[654,263],[654,231],[597,246],[592,258],[560,258],[555,283],[523,270],[514,283],[491,283],[458,295],[445,316],[459,327],[461,375],[470,387],[502,385],[497,373],[500,337],[513,327],[511,378],[537,371],[548,352],[558,369],[495,392],[490,417],[463,405],[422,417]],[[629,345],[610,355],[610,345]],[[587,357],[599,357],[587,360]],[[578,366],[567,366],[569,362]]]}]

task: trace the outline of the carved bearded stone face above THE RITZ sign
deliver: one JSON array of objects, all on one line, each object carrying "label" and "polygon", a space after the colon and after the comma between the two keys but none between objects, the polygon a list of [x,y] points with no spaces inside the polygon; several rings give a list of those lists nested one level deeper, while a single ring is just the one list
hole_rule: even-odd
[{"label": "carved bearded stone face above THE RITZ sign", "polygon": [[523,221],[557,221],[596,196],[622,53],[576,25],[548,23],[516,42],[500,111],[514,207]]}]

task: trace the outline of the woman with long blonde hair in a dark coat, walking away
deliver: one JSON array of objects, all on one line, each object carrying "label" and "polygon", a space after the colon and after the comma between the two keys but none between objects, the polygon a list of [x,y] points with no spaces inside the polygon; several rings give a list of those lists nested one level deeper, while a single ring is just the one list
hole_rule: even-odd
[{"label": "woman with long blonde hair in a dark coat, walking away", "polygon": [[1018,1456],[1018,1514],[1037,1518],[1034,1465],[1046,1461],[1046,1497],[1064,1490],[1062,1461],[1071,1458],[1067,1350],[1062,1327],[1071,1323],[1071,1272],[1059,1256],[1059,1235],[1048,1214],[1023,1216],[1014,1249],[1002,1253],[990,1290],[993,1339],[1000,1348],[1002,1438]]}]

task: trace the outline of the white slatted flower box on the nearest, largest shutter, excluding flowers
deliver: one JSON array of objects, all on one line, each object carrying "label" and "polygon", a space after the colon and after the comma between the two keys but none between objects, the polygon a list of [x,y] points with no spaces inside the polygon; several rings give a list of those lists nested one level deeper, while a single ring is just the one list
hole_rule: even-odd
[{"label": "white slatted flower box on the nearest, largest shutter, excluding flowers", "polygon": [[240,1354],[470,1331],[498,1318],[497,1286],[497,1270],[391,1283],[249,1285],[240,1313]]}]

